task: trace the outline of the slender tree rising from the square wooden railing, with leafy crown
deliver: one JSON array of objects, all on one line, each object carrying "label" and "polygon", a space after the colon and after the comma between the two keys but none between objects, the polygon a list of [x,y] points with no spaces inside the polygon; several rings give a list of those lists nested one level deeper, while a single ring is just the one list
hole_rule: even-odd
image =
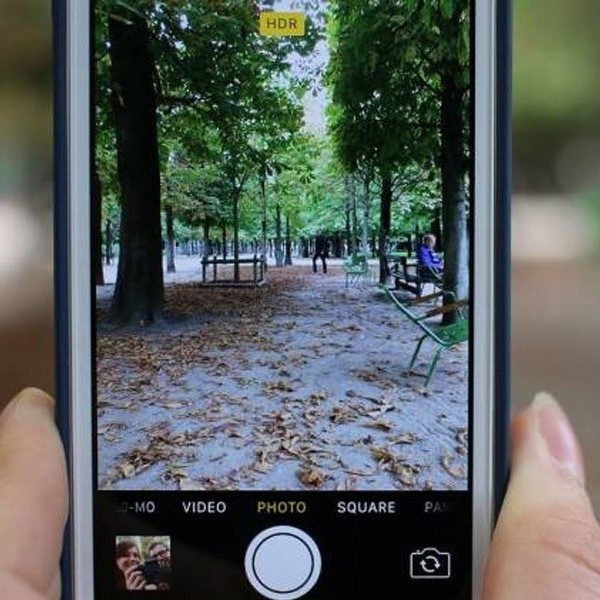
[{"label": "slender tree rising from the square wooden railing, with leafy crown", "polygon": [[[217,134],[239,279],[240,210],[249,179],[301,125],[302,82],[289,73],[291,51],[307,52],[314,33],[280,42],[257,35],[253,3],[201,1],[162,6],[162,110],[192,111]],[[183,18],[185,17],[185,18]],[[168,58],[166,58],[168,56]],[[225,222],[223,223],[225,225]]]}]

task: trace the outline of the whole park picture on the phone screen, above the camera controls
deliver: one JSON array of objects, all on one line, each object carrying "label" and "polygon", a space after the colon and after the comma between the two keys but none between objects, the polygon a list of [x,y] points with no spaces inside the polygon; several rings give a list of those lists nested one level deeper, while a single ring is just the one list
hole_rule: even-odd
[{"label": "whole park picture on the phone screen, above the camera controls", "polygon": [[470,7],[95,2],[102,490],[466,490]]}]

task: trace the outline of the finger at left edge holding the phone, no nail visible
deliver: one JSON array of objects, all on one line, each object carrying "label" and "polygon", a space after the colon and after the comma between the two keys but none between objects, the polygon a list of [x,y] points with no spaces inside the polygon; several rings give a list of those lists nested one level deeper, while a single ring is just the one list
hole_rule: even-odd
[{"label": "finger at left edge holding the phone, no nail visible", "polygon": [[54,402],[25,390],[0,415],[0,598],[60,597],[67,490]]}]

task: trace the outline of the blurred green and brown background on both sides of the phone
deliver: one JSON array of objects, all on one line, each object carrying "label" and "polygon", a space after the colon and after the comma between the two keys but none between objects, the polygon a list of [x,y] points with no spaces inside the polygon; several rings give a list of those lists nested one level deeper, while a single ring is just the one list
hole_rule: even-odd
[{"label": "blurred green and brown background on both sides of the phone", "polygon": [[[513,408],[556,395],[600,514],[600,3],[514,0]],[[53,391],[50,0],[0,0],[0,406]]]}]

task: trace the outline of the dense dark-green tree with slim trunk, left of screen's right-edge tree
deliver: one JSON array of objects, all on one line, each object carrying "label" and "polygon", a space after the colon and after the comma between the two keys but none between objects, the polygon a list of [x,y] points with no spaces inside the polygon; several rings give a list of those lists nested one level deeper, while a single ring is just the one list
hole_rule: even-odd
[{"label": "dense dark-green tree with slim trunk, left of screen's right-edge tree", "polygon": [[394,177],[427,160],[435,135],[431,107],[418,93],[412,56],[396,26],[398,2],[333,3],[329,122],[337,154],[348,170],[376,173],[380,183],[379,261],[381,283],[388,273],[387,246]]}]

